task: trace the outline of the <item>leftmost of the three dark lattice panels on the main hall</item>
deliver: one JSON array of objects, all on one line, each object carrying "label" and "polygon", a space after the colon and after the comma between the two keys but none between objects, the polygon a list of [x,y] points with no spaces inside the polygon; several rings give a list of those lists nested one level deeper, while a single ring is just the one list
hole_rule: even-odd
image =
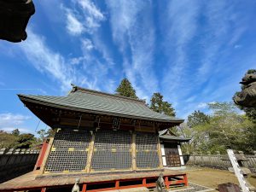
[{"label": "leftmost of the three dark lattice panels on the main hall", "polygon": [[56,132],[45,172],[84,170],[90,138],[89,131],[61,130]]}]

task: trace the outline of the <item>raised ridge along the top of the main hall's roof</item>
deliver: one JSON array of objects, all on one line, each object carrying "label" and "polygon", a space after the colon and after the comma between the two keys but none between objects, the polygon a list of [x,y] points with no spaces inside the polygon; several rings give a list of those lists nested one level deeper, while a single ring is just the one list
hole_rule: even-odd
[{"label": "raised ridge along the top of the main hall's roof", "polygon": [[111,93],[102,92],[99,90],[90,90],[90,89],[87,89],[84,87],[79,87],[75,84],[71,84],[71,85],[73,86],[73,89],[69,92],[69,94],[74,93],[76,91],[81,91],[81,92],[93,94],[96,96],[110,96],[110,97],[119,98],[119,99],[126,100],[126,101],[128,100],[130,102],[139,102],[144,105],[146,104],[146,102],[141,99],[135,99],[135,98],[127,97],[127,96],[119,96],[119,95],[115,95],[115,94],[111,94]]}]

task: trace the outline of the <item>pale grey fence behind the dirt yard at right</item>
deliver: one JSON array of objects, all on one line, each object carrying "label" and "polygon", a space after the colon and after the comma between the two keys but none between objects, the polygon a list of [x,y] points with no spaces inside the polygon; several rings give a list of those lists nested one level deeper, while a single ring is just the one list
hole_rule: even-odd
[{"label": "pale grey fence behind the dirt yard at right", "polygon": [[[253,151],[253,154],[243,154],[242,151],[238,153],[244,155],[248,160],[242,161],[242,166],[256,173],[256,151]],[[219,154],[218,152],[216,154],[184,154],[183,159],[187,166],[203,166],[227,170],[232,165],[230,160],[223,160],[225,156],[227,154]]]}]

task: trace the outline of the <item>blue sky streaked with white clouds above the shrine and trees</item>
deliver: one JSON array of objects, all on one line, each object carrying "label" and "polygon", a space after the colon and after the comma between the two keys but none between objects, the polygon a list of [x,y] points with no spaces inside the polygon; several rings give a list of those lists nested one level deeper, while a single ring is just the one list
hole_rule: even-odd
[{"label": "blue sky streaked with white clouds above the shrine and trees", "polygon": [[[34,1],[25,42],[0,41],[0,129],[34,133],[17,93],[67,95],[70,84],[137,96],[159,91],[177,117],[230,102],[256,68],[256,2]],[[45,125],[40,123],[39,129]]]}]

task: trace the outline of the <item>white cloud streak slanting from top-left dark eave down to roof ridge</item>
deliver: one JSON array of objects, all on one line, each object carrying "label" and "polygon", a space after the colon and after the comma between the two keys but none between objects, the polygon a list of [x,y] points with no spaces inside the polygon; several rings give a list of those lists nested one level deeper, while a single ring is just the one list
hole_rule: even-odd
[{"label": "white cloud streak slanting from top-left dark eave down to roof ridge", "polygon": [[[20,49],[25,53],[27,60],[30,61],[33,67],[38,69],[39,72],[46,74],[50,79],[60,83],[63,92],[70,90],[71,83],[81,84],[90,89],[97,89],[96,79],[91,77],[93,77],[93,74],[98,72],[97,69],[100,70],[100,68],[86,64],[85,66],[89,67],[89,71],[83,72],[79,67],[76,67],[80,62],[90,60],[86,55],[79,58],[68,59],[50,49],[45,43],[44,37],[32,32],[32,29],[28,30],[28,34],[29,37],[26,42],[20,44]],[[85,42],[87,42],[86,39]],[[88,44],[88,42],[83,45],[86,45],[87,49],[84,51],[90,56],[88,49],[92,49],[92,45]],[[71,64],[73,65],[67,61],[72,61]],[[90,63],[92,64],[93,62]],[[92,72],[92,69],[94,72]]]}]

